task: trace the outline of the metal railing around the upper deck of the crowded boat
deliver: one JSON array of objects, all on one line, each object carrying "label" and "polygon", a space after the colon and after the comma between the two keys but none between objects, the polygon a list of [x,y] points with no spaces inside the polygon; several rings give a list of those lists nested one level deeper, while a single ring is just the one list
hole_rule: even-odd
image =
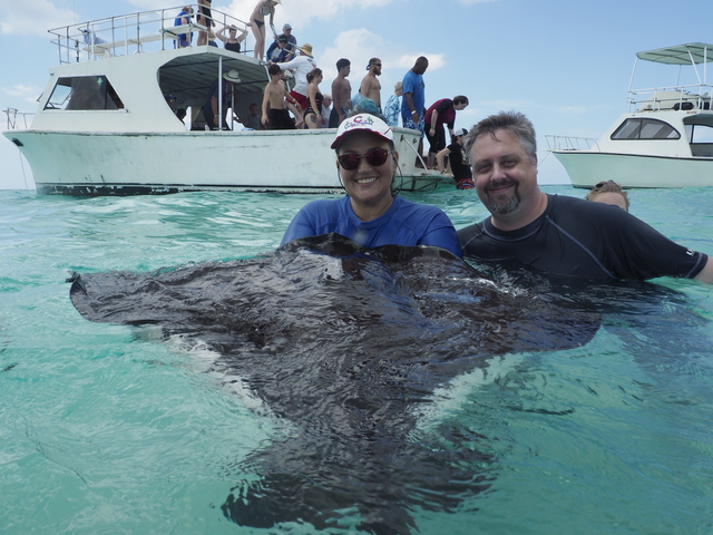
[{"label": "metal railing around the upper deck of the crowded boat", "polygon": [[[185,6],[194,10],[191,22],[176,25]],[[184,4],[64,26],[49,30],[49,33],[53,36],[51,42],[57,46],[60,64],[92,61],[175,48],[179,35],[206,30],[205,25],[196,22],[197,12],[198,4]],[[226,26],[248,30],[247,22],[227,13],[213,9],[211,14],[216,25],[215,33]],[[242,48],[242,54],[251,51],[246,45]]]}]

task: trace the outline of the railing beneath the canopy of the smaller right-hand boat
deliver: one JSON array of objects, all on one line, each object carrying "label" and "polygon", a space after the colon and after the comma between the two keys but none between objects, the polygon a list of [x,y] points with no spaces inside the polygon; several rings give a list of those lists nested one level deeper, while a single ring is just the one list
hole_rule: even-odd
[{"label": "railing beneath the canopy of the smaller right-hand boat", "polygon": [[660,111],[662,109],[713,109],[713,86],[707,84],[678,85],[631,89],[629,113],[635,110]]}]

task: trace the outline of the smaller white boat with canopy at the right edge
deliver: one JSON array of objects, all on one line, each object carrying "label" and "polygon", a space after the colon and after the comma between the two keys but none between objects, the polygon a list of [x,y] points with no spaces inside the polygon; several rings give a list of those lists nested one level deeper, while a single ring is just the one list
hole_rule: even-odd
[{"label": "smaller white boat with canopy at the right edge", "polygon": [[[639,60],[676,66],[677,79],[668,86],[633,89]],[[713,45],[701,42],[638,52],[629,113],[600,139],[547,136],[573,186],[590,188],[609,179],[624,187],[713,186],[710,61]],[[692,84],[683,84],[682,76]]]}]

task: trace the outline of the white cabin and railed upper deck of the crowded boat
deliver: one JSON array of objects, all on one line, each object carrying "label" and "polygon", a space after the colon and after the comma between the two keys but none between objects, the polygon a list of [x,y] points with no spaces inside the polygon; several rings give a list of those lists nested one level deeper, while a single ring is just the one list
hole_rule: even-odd
[{"label": "white cabin and railed upper deck of the crowded boat", "polygon": [[[246,117],[251,104],[262,105],[270,78],[264,62],[252,51],[246,54],[247,40],[241,52],[224,49],[221,41],[177,48],[178,36],[206,29],[196,22],[174,26],[179,11],[169,8],[50,30],[60,65],[50,74],[32,128],[204,130],[202,108],[211,85],[231,70],[238,72],[240,81],[231,86],[228,117]],[[212,13],[218,25],[215,31],[224,26],[247,28],[226,13],[215,9]],[[222,107],[223,99],[218,100]]]}]

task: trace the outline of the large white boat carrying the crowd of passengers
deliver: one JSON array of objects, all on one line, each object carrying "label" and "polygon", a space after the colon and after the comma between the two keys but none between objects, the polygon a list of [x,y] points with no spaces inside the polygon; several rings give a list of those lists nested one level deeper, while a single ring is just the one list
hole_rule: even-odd
[{"label": "large white boat carrying the crowd of passengers", "polygon": [[[59,65],[51,68],[29,126],[12,120],[3,132],[29,162],[38,193],[342,192],[330,149],[334,129],[252,130],[240,123],[205,129],[201,108],[214,80],[238,71],[238,97],[228,116],[246,117],[251,103],[262,105],[270,78],[252,52],[175,48],[177,35],[205,29],[195,22],[174,26],[179,11],[50,30]],[[247,28],[215,9],[213,18],[216,30]],[[82,91],[90,94],[88,101],[80,100]],[[176,116],[178,108],[186,109],[186,124]],[[417,132],[394,128],[394,139],[403,189],[452,187],[452,181],[416,166]]]}]

